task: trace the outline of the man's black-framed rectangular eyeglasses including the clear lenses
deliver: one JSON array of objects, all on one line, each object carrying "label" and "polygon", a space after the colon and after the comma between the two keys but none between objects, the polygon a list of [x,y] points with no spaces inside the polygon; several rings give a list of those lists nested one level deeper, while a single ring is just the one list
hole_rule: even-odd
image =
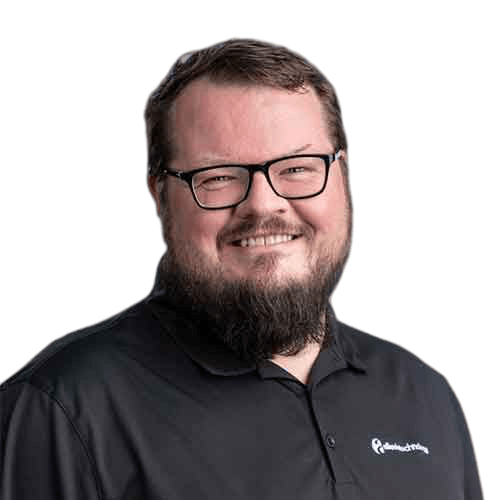
[{"label": "man's black-framed rectangular eyeglasses including the clear lenses", "polygon": [[244,201],[255,172],[263,172],[275,194],[287,200],[301,200],[321,194],[326,187],[331,164],[340,149],[331,155],[295,155],[259,165],[216,165],[188,172],[164,169],[159,175],[171,175],[186,182],[199,207],[206,210],[231,208]]}]

